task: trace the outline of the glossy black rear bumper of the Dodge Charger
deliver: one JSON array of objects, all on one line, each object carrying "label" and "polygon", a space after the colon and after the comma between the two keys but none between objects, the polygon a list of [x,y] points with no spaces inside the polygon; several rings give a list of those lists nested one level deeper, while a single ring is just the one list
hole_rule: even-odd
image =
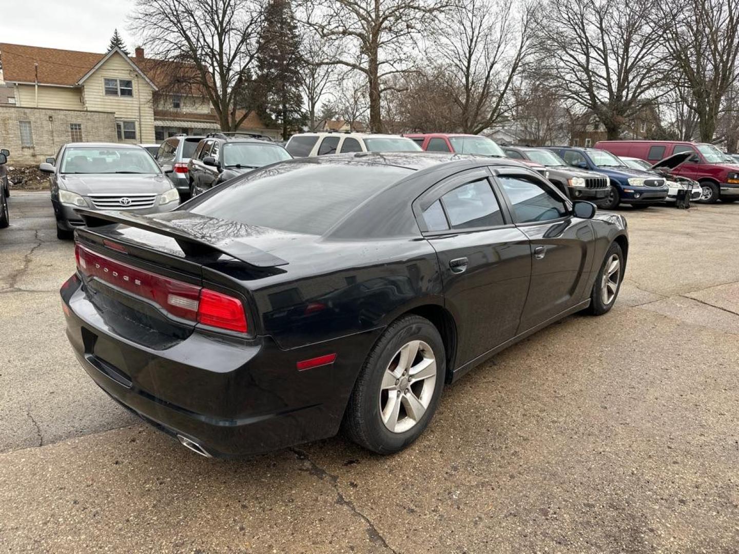
[{"label": "glossy black rear bumper of the Dodge Charger", "polygon": [[[349,394],[380,330],[282,350],[269,337],[224,340],[197,329],[167,348],[122,338],[81,281],[61,290],[67,337],[95,383],[118,403],[211,456],[259,454],[338,431]],[[336,352],[299,372],[296,362]]]}]

